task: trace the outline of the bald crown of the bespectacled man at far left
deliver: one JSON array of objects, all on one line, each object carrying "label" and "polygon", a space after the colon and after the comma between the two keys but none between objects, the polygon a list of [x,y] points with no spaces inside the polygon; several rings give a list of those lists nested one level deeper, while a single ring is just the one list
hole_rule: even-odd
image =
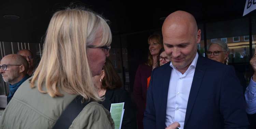
[{"label": "bald crown of the bespectacled man at far left", "polygon": [[9,54],[6,55],[2,58],[2,61],[6,61],[8,62],[8,64],[23,64],[24,65],[24,72],[23,73],[27,73],[28,71],[28,61],[21,55],[18,54]]}]

